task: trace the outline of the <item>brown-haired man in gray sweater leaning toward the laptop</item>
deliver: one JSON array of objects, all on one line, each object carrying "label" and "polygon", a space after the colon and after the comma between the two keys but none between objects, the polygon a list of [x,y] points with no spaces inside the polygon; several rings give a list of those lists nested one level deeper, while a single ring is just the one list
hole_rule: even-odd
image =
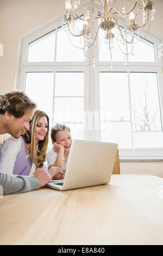
[{"label": "brown-haired man in gray sweater leaning toward the laptop", "polygon": [[[9,133],[20,138],[23,130],[29,130],[29,121],[34,115],[35,103],[23,92],[10,92],[0,96],[0,134]],[[38,189],[51,182],[53,177],[43,169],[37,169],[34,176],[11,176],[0,170],[0,185],[3,194],[23,193]]]}]

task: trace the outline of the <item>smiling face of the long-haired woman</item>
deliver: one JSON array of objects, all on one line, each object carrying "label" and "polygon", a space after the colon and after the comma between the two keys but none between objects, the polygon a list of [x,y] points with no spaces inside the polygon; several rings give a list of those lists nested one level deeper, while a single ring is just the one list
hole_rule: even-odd
[{"label": "smiling face of the long-haired woman", "polygon": [[44,140],[45,135],[47,134],[48,131],[48,121],[46,116],[42,116],[39,121],[36,124],[35,128],[35,136],[36,140]]}]

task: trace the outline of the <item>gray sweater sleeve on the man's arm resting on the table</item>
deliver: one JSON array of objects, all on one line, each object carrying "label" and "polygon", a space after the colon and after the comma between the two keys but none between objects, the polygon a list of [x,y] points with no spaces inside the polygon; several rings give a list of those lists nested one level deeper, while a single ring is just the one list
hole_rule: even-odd
[{"label": "gray sweater sleeve on the man's arm resting on the table", "polygon": [[40,183],[34,176],[11,176],[0,172],[0,186],[3,194],[23,193],[40,188]]}]

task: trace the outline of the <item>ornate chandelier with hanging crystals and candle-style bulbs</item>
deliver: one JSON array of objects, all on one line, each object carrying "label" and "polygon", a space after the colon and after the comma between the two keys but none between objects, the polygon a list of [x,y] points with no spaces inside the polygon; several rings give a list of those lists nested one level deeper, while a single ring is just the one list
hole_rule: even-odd
[{"label": "ornate chandelier with hanging crystals and candle-style bulbs", "polygon": [[[81,2],[81,4],[80,4]],[[131,2],[134,2],[131,5]],[[79,8],[79,5],[82,5]],[[134,43],[146,37],[150,20],[154,20],[155,9],[154,2],[150,0],[66,0],[66,14],[62,19],[62,27],[67,26],[68,37],[79,37],[82,47],[74,46],[84,50],[84,60],[88,56],[88,50],[94,44],[96,48],[104,40],[107,49],[110,51],[110,61],[112,68],[112,48],[114,41],[117,40],[120,50],[126,55],[130,53],[134,56]],[[82,10],[79,15],[78,9]],[[82,9],[83,8],[83,9]],[[82,21],[82,29],[77,27],[76,19]],[[148,25],[147,33],[142,38],[139,37],[139,29]],[[101,32],[102,38],[99,37]],[[134,40],[134,34],[137,35],[137,41]],[[131,45],[130,52],[124,51],[125,45]],[[123,49],[122,49],[123,48]],[[97,53],[98,53],[97,51]],[[95,67],[95,52],[93,57],[93,67]]]}]

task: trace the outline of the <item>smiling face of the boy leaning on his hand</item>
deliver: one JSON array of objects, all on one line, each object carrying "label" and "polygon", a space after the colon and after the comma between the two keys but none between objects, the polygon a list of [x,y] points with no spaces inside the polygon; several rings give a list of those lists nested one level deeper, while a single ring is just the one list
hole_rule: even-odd
[{"label": "smiling face of the boy leaning on his hand", "polygon": [[70,152],[72,139],[69,130],[59,130],[55,135],[56,142],[64,146],[66,152]]}]

